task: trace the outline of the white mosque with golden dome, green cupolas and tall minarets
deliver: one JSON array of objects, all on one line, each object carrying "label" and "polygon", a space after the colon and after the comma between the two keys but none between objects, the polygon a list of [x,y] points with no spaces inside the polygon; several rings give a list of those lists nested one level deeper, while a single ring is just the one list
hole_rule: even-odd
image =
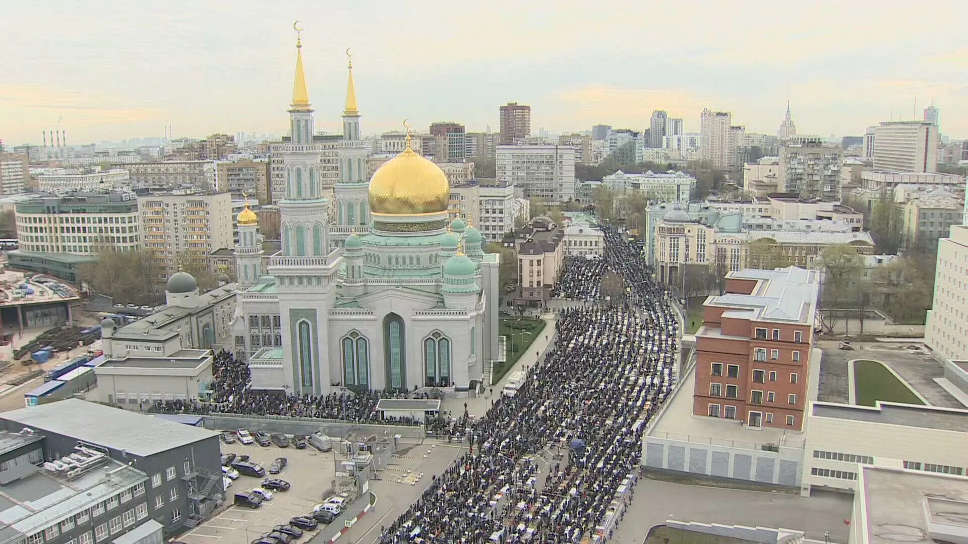
[{"label": "white mosque with golden dome, green cupolas and tall minarets", "polygon": [[[234,249],[235,356],[248,362],[254,388],[288,394],[469,390],[499,358],[499,255],[484,253],[476,228],[447,224],[447,177],[409,136],[369,184],[364,161],[341,158],[331,202],[308,96],[297,40],[282,250],[263,270],[258,218],[247,205]],[[358,148],[351,64],[343,121],[346,147]],[[341,229],[345,241],[333,232]]]}]

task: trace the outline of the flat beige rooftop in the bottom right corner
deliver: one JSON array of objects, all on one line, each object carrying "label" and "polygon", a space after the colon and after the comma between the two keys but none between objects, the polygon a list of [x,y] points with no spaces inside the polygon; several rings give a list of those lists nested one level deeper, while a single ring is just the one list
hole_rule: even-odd
[{"label": "flat beige rooftop in the bottom right corner", "polygon": [[[864,542],[963,542],[968,478],[921,470],[862,466],[858,495]],[[956,535],[961,536],[957,539]]]}]

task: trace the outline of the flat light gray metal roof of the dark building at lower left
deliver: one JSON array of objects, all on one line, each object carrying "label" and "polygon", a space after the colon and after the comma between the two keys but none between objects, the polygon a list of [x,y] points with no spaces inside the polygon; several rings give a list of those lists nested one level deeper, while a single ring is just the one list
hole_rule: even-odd
[{"label": "flat light gray metal roof of the dark building at lower left", "polygon": [[219,436],[215,431],[80,399],[0,413],[0,421],[14,421],[38,431],[128,450],[140,457]]}]

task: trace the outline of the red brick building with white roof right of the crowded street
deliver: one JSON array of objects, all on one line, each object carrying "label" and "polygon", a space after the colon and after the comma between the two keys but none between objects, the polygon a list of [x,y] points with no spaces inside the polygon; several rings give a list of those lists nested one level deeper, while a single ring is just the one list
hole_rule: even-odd
[{"label": "red brick building with white roof right of the crowded street", "polygon": [[725,288],[703,303],[692,413],[801,431],[820,273],[745,268]]}]

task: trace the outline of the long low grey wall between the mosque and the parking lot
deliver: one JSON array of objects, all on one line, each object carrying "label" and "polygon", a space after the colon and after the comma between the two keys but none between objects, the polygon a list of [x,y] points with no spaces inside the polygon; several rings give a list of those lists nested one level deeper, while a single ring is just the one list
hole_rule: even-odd
[{"label": "long low grey wall between the mosque and the parking lot", "polygon": [[232,414],[210,414],[202,416],[202,425],[206,429],[232,430],[244,427],[250,430],[261,430],[268,433],[284,433],[287,435],[312,435],[322,431],[330,437],[346,437],[350,432],[385,436],[393,438],[400,435],[403,438],[424,438],[421,426],[409,425],[372,425],[351,423],[332,419],[315,419],[311,417],[282,417],[282,416],[239,416]]}]

